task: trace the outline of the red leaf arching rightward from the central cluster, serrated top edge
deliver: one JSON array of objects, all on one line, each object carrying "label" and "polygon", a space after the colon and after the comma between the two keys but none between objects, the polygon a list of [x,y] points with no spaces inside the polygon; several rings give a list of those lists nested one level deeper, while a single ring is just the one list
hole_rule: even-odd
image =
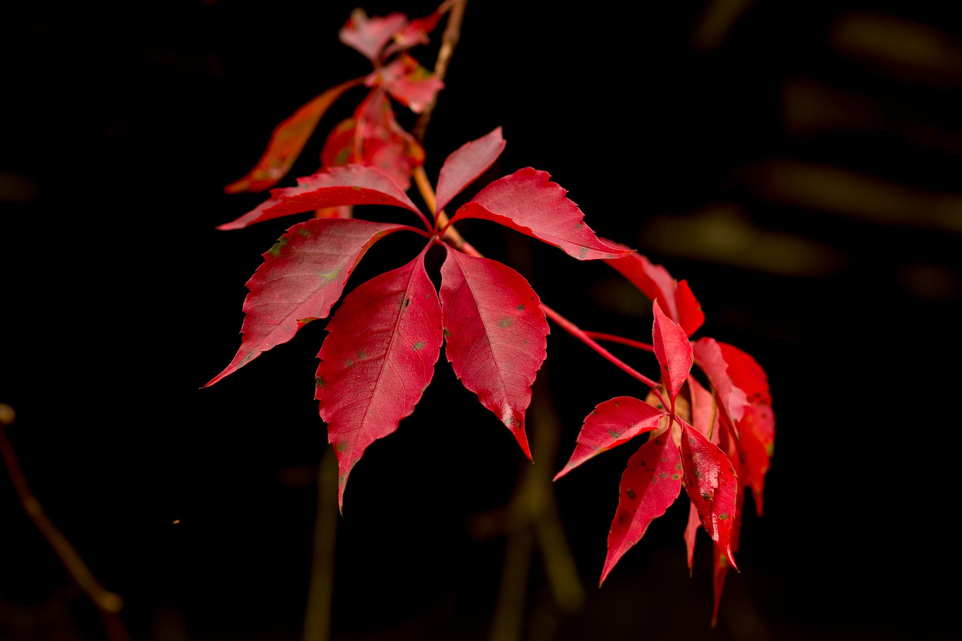
[{"label": "red leaf arching rightward from the central cluster, serrated top edge", "polygon": [[459,209],[451,222],[465,218],[493,220],[555,245],[579,260],[614,259],[631,253],[598,240],[582,222],[585,214],[565,197],[568,191],[548,178],[546,171],[531,167],[499,178]]}]

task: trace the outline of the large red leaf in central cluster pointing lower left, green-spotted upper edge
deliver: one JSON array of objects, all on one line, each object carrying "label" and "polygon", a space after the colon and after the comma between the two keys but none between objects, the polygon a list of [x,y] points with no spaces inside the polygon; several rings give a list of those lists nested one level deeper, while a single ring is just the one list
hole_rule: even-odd
[{"label": "large red leaf in central cluster pointing lower left, green-spotted upper edge", "polygon": [[298,223],[263,255],[247,281],[241,349],[208,382],[233,374],[262,352],[293,338],[312,320],[326,318],[367,249],[403,225],[367,220],[312,219]]}]

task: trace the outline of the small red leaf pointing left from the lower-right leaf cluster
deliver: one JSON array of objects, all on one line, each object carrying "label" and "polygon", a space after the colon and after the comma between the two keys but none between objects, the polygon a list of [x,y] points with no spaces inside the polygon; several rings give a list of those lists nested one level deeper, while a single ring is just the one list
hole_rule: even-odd
[{"label": "small red leaf pointing left from the lower-right leaf cluster", "polygon": [[583,462],[618,447],[638,434],[658,429],[658,419],[668,413],[631,396],[619,396],[600,403],[585,417],[578,444],[568,465],[555,475],[557,481]]}]

